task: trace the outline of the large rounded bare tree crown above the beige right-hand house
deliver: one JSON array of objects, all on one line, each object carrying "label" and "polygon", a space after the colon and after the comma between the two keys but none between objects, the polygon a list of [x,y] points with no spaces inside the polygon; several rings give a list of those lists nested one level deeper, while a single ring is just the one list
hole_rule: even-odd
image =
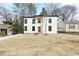
[{"label": "large rounded bare tree crown above the beige right-hand house", "polygon": [[60,19],[62,21],[66,21],[69,18],[72,20],[73,17],[77,14],[77,8],[75,6],[65,5],[65,6],[61,7],[60,9],[61,9]]}]

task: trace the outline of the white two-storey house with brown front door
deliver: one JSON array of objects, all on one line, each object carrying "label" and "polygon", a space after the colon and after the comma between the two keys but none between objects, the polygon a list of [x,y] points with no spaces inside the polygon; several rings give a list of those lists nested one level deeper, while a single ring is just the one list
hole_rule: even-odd
[{"label": "white two-storey house with brown front door", "polygon": [[57,34],[57,16],[24,17],[24,33]]}]

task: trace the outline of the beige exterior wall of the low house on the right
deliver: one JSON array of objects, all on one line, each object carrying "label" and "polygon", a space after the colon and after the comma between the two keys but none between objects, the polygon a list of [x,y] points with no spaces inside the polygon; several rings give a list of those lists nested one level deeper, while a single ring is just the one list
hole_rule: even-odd
[{"label": "beige exterior wall of the low house on the right", "polygon": [[63,23],[62,21],[58,22],[57,31],[58,32],[79,32],[79,24],[74,24],[75,25],[74,29],[70,29],[69,25],[72,25],[72,24]]}]

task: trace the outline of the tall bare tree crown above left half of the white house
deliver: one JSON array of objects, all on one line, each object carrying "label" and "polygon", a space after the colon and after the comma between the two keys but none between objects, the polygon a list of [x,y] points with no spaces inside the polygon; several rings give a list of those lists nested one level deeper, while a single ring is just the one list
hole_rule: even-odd
[{"label": "tall bare tree crown above left half of the white house", "polygon": [[21,16],[36,14],[36,7],[33,3],[14,3],[14,5],[17,7],[16,11],[18,11]]}]

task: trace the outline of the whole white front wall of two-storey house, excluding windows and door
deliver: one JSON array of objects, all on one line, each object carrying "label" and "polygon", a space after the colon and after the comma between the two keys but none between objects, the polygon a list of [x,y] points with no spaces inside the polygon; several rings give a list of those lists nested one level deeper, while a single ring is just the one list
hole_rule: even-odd
[{"label": "whole white front wall of two-storey house, excluding windows and door", "polygon": [[[52,23],[48,23],[49,18],[52,19]],[[27,19],[27,24],[25,24]],[[32,19],[35,19],[35,24],[32,24]],[[56,34],[57,33],[57,17],[43,17],[41,23],[38,23],[37,18],[24,18],[24,26],[27,26],[27,31],[24,33],[39,33],[38,27],[41,27],[42,34]],[[35,31],[32,31],[32,26],[35,26]],[[48,26],[52,26],[52,31],[48,31]]]}]

